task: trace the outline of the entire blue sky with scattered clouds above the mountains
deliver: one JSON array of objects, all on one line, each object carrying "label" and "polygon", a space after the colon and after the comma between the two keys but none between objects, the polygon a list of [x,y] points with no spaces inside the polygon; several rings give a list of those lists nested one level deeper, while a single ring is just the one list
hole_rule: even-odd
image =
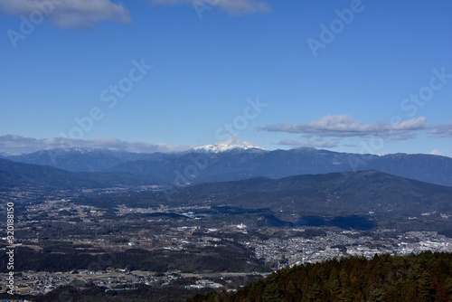
[{"label": "entire blue sky with scattered clouds above the mountains", "polygon": [[452,155],[452,3],[0,0],[0,151]]}]

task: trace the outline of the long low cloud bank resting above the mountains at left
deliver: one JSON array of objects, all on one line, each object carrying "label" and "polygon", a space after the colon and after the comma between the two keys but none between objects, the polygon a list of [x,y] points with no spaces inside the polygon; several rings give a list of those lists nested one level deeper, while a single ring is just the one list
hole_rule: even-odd
[{"label": "long low cloud bank resting above the mountains at left", "polygon": [[189,146],[127,142],[109,137],[89,140],[63,137],[38,139],[13,135],[0,137],[0,152],[7,153],[31,153],[39,150],[71,147],[107,148],[137,153],[154,153],[183,151],[188,149]]}]

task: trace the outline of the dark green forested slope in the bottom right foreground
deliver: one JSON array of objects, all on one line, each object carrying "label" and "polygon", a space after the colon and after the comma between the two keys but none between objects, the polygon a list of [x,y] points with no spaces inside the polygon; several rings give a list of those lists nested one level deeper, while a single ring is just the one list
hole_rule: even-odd
[{"label": "dark green forested slope in the bottom right foreground", "polygon": [[452,253],[328,260],[281,269],[236,293],[197,295],[187,302],[452,301]]}]

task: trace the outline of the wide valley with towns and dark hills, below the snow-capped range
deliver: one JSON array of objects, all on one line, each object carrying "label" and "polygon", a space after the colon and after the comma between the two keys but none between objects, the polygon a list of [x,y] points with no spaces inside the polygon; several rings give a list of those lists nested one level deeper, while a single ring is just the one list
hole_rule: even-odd
[{"label": "wide valley with towns and dark hills, below the snow-capped range", "polygon": [[171,186],[3,164],[14,290],[32,301],[64,292],[184,301],[297,265],[452,250],[452,188],[376,170]]}]

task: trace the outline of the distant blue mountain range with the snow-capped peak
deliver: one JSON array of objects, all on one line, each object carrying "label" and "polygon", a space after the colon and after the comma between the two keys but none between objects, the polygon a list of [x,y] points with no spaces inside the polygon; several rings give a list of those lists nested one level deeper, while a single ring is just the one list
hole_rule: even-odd
[{"label": "distant blue mountain range with the snow-capped peak", "polygon": [[109,149],[53,149],[26,155],[0,155],[71,172],[110,172],[145,176],[161,184],[185,186],[264,176],[315,175],[376,170],[431,184],[452,185],[452,158],[338,153],[302,147],[263,150],[255,146],[210,145],[180,153],[137,154]]}]

